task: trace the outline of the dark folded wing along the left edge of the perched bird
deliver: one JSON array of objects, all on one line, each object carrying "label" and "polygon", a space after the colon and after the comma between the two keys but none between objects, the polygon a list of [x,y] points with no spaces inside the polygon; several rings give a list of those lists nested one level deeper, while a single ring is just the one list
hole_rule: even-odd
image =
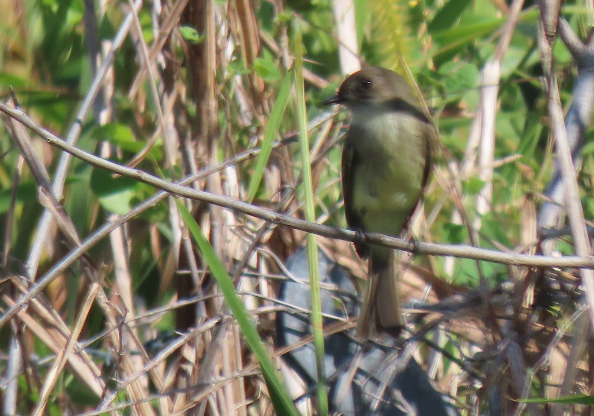
[{"label": "dark folded wing along the left edge of the perched bird", "polygon": [[[358,137],[359,136],[359,137]],[[359,129],[351,125],[346,133],[345,146],[342,150],[342,194],[345,201],[346,223],[354,231],[364,231],[361,217],[353,209],[353,172],[359,163],[359,155],[352,146],[354,140],[361,140]],[[355,243],[355,250],[359,257],[365,259],[369,256],[367,244]]]}]

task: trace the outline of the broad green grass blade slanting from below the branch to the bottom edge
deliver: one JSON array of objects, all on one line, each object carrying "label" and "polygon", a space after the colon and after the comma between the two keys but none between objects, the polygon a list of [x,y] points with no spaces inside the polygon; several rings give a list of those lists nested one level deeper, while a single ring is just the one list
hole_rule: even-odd
[{"label": "broad green grass blade slanting from below the branch to the bottom edge", "polygon": [[235,285],[225,269],[225,266],[223,266],[219,257],[214,253],[214,249],[210,245],[210,242],[204,237],[200,226],[198,226],[198,223],[188,212],[184,204],[179,200],[176,200],[175,202],[178,205],[179,213],[181,213],[185,225],[188,226],[194,241],[198,244],[198,248],[200,248],[204,261],[219,284],[223,296],[225,297],[225,301],[237,320],[241,332],[244,334],[245,340],[248,342],[249,348],[251,348],[252,352],[254,352],[256,358],[258,358],[258,361],[260,362],[262,374],[264,380],[266,380],[266,385],[268,386],[268,391],[270,392],[270,398],[273,402],[276,414],[299,416],[299,412],[295,408],[289,392],[287,392],[285,383],[280,379],[274,363],[268,356],[264,342],[260,338],[260,335],[258,335],[254,322],[252,322],[252,317],[245,308],[244,302],[237,294]]}]

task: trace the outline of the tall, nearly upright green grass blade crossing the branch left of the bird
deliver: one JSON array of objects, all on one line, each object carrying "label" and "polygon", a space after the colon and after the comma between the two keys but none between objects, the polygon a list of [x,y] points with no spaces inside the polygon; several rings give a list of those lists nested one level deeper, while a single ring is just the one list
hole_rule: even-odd
[{"label": "tall, nearly upright green grass blade crossing the branch left of the bird", "polygon": [[[311,161],[309,160],[309,142],[307,135],[307,111],[303,79],[303,44],[298,24],[293,21],[293,53],[295,54],[295,92],[297,95],[297,118],[299,124],[299,142],[303,183],[305,188],[305,219],[315,222],[314,187],[311,179]],[[324,328],[322,322],[322,302],[320,295],[320,276],[318,270],[318,245],[315,234],[307,235],[309,257],[309,284],[311,285],[311,326],[314,334],[315,364],[318,371],[318,414],[328,414],[328,393],[326,391],[326,370],[324,367]]]}]

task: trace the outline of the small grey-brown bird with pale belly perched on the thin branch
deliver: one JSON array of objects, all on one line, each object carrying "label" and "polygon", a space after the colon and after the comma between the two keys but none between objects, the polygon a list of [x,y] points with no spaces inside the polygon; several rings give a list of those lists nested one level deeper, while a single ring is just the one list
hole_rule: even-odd
[{"label": "small grey-brown bird with pale belly perched on the thin branch", "polygon": [[[324,103],[343,104],[352,114],[342,153],[346,222],[355,231],[399,236],[423,195],[437,140],[421,101],[400,75],[366,67],[346,78],[338,94]],[[405,319],[394,250],[367,244],[355,248],[369,259],[357,335],[398,336]]]}]

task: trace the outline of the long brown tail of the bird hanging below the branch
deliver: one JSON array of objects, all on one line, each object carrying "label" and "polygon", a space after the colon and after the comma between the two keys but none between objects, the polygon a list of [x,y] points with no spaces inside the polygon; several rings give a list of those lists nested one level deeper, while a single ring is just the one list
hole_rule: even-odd
[{"label": "long brown tail of the bird hanging below the branch", "polygon": [[400,272],[394,264],[395,253],[390,250],[388,256],[374,256],[374,250],[371,250],[367,288],[357,323],[359,338],[369,339],[376,332],[387,332],[396,337],[406,324],[400,301]]}]

